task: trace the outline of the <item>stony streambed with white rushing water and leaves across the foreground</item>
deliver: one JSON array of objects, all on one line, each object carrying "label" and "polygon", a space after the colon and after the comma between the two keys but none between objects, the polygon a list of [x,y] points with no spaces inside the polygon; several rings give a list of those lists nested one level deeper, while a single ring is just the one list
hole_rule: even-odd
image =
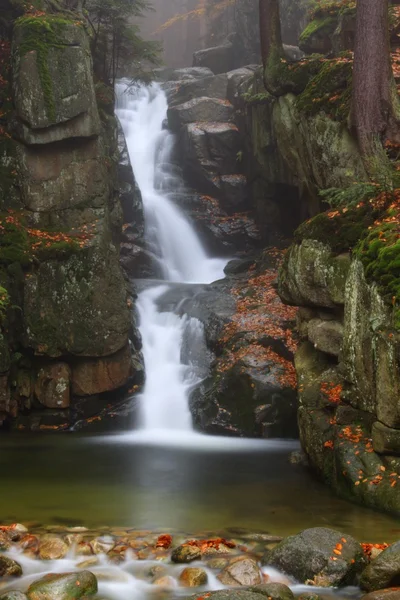
[{"label": "stony streambed with white rushing water and leaves across the foreground", "polygon": [[317,527],[285,539],[231,529],[0,526],[0,598],[292,600],[333,593],[398,600],[400,541],[360,543]]}]

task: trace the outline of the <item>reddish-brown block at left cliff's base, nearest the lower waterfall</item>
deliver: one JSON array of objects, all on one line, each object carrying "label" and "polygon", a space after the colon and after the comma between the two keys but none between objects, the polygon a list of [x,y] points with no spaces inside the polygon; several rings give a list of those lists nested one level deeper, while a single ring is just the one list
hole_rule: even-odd
[{"label": "reddish-brown block at left cliff's base, nearest the lower waterfall", "polygon": [[72,370],[72,390],[91,396],[124,386],[133,374],[132,355],[127,345],[112,356],[81,360]]}]

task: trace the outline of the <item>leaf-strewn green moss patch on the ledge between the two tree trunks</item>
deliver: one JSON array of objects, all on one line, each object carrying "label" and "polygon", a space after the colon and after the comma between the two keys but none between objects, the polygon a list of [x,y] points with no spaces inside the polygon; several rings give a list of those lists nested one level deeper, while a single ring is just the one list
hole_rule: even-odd
[{"label": "leaf-strewn green moss patch on the ledge between the two tree trunks", "polygon": [[318,73],[297,98],[297,108],[307,114],[325,112],[338,121],[346,121],[350,112],[353,62],[350,55],[325,60]]}]

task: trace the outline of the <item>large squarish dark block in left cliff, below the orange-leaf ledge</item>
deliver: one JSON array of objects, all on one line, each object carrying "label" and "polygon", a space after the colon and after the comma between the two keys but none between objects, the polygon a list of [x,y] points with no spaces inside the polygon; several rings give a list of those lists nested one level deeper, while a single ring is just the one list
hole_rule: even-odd
[{"label": "large squarish dark block in left cliff, below the orange-leaf ledge", "polygon": [[24,342],[37,354],[100,357],[126,346],[127,292],[107,236],[64,261],[42,262],[25,280]]}]

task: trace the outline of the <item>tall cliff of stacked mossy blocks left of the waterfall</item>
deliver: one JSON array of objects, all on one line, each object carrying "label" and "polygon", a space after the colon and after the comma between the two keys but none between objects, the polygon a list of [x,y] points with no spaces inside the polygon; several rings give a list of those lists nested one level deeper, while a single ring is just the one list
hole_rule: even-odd
[{"label": "tall cliff of stacked mossy blocks left of the waterfall", "polygon": [[[21,312],[7,312],[12,334],[0,337],[0,420],[35,408],[56,429],[55,411],[63,427],[72,425],[75,394],[142,377],[119,243],[123,221],[140,238],[143,214],[112,103],[97,97],[80,19],[21,17],[12,45],[18,198],[0,249],[0,290]],[[12,389],[11,353],[22,356]],[[30,427],[29,418],[23,423],[16,425]]]}]

